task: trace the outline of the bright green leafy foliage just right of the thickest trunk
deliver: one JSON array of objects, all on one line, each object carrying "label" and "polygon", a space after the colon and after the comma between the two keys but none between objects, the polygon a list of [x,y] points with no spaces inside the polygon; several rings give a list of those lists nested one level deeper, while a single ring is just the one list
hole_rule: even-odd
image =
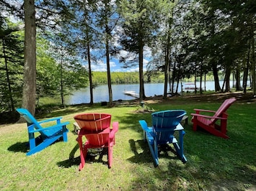
[{"label": "bright green leafy foliage just right of the thickest trunk", "polygon": [[87,87],[87,70],[71,56],[54,50],[45,39],[37,40],[37,99],[69,95],[72,90]]}]

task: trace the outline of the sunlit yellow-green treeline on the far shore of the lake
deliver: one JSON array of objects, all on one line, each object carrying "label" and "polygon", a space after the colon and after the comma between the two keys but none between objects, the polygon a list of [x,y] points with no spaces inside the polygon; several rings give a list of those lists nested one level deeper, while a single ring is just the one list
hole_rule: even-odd
[{"label": "sunlit yellow-green treeline on the far shore of the lake", "polygon": [[[222,75],[220,74],[219,80],[222,80]],[[146,74],[144,75],[145,83],[164,83],[164,73],[154,73],[151,75],[150,81],[147,80]],[[193,82],[195,78],[185,78],[183,82]],[[213,81],[213,75],[206,76],[207,81]],[[199,78],[197,79],[199,81]],[[94,85],[97,84],[107,84],[107,72],[93,72],[92,73],[92,82]],[[139,83],[138,72],[114,72],[111,73],[111,82],[112,84],[118,83]]]}]

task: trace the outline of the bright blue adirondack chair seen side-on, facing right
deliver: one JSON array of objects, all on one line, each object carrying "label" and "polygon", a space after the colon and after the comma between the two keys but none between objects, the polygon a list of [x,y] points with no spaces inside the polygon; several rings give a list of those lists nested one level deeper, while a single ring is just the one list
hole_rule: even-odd
[{"label": "bright blue adirondack chair seen side-on, facing right", "polygon": [[[27,121],[27,130],[30,144],[30,151],[27,152],[27,156],[42,151],[61,137],[63,137],[64,142],[68,141],[67,132],[69,132],[69,130],[66,129],[66,125],[68,125],[69,122],[61,123],[62,117],[50,118],[44,121],[37,121],[32,116],[32,114],[27,111],[27,109],[17,108],[17,111],[20,116],[25,118],[25,120]],[[45,124],[50,121],[56,121],[56,124],[47,127],[41,126],[41,124]],[[37,138],[35,138],[36,132],[40,133],[40,136],[37,136]]]}]

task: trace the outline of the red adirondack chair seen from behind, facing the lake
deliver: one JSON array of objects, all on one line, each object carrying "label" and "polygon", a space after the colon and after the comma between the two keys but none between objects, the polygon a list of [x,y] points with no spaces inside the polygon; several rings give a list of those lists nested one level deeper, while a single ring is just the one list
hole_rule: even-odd
[{"label": "red adirondack chair seen from behind, facing the lake", "polygon": [[[118,122],[112,123],[110,129],[111,115],[107,113],[82,113],[74,116],[76,123],[81,128],[76,141],[79,143],[80,159],[79,170],[84,168],[88,149],[108,148],[108,167],[112,166],[113,146],[115,145],[115,133],[118,131]],[[83,143],[83,136],[86,141]]]}]

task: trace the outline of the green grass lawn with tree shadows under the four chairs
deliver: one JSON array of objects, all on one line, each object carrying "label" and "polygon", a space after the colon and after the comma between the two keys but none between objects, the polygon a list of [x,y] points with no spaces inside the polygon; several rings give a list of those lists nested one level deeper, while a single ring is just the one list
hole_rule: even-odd
[{"label": "green grass lawn with tree shadows under the four chairs", "polygon": [[[154,111],[193,108],[216,110],[222,100],[180,97],[148,102]],[[256,189],[256,103],[237,100],[228,110],[228,136],[222,139],[185,125],[184,150],[187,163],[175,153],[159,154],[154,167],[149,146],[143,141],[138,120],[151,124],[151,113],[138,113],[138,105],[70,106],[45,117],[63,116],[69,121],[69,141],[59,141],[42,152],[26,157],[27,125],[0,126],[0,190],[255,190]],[[119,121],[112,168],[107,156],[87,161],[79,172],[77,135],[73,133],[77,113],[110,113]],[[40,119],[43,119],[40,116]]]}]

